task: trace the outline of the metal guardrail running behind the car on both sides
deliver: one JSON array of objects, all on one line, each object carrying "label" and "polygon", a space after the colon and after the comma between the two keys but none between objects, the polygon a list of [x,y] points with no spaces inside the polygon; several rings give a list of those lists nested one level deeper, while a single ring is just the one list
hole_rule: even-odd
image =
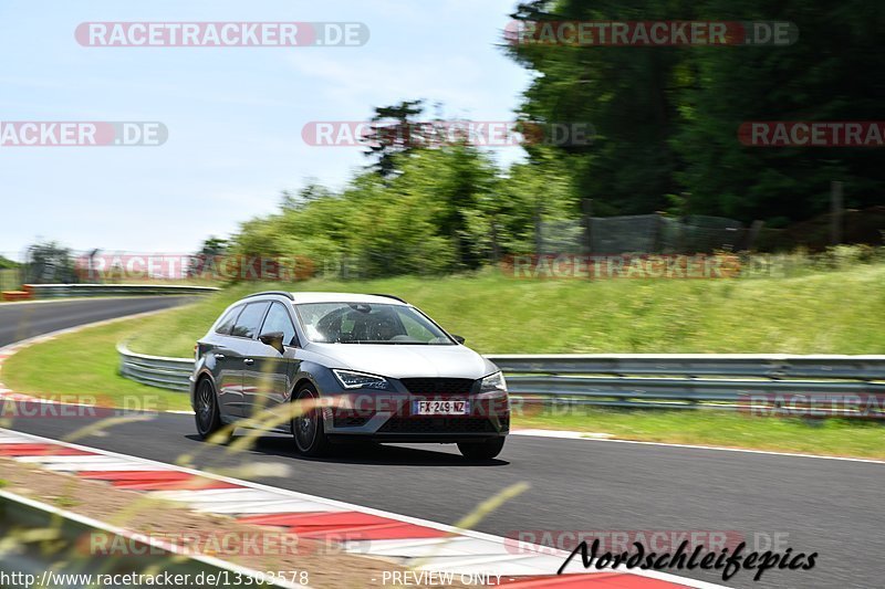
[{"label": "metal guardrail running behind the car on both sides", "polygon": [[[121,374],[153,387],[188,390],[189,358],[135,354],[119,345]],[[648,409],[777,407],[779,397],[885,407],[885,356],[789,355],[489,355],[511,396],[528,403]],[[706,378],[697,378],[706,377]],[[738,378],[733,378],[738,377]],[[875,382],[881,381],[881,382]],[[800,399],[801,400],[801,399]],[[819,409],[827,413],[825,408]],[[881,410],[879,410],[881,411]],[[861,413],[857,413],[861,414]],[[882,417],[876,413],[866,417]]]}]

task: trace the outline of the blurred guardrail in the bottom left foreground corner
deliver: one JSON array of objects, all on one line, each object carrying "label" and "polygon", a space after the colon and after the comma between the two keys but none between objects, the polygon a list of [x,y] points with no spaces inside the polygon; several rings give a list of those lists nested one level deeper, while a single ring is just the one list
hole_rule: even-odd
[{"label": "blurred guardrail in the bottom left foreground corner", "polygon": [[[65,587],[87,589],[91,576],[125,572],[152,577],[181,576],[188,579],[180,588],[222,585],[207,579],[237,579],[243,585],[263,587],[302,587],[270,579],[260,571],[225,562],[218,558],[187,554],[169,543],[137,535],[90,517],[59,509],[45,503],[0,491],[0,536],[4,549],[0,550],[0,570],[18,572],[22,587],[35,587],[48,579],[48,571],[58,578],[65,577]],[[119,546],[121,554],[90,556],[93,538],[98,546]],[[184,577],[187,575],[188,577]],[[238,577],[239,575],[239,577]],[[25,576],[30,576],[25,582]],[[210,577],[211,576],[211,577]],[[163,585],[162,582],[157,583]],[[227,585],[227,583],[223,583]]]}]

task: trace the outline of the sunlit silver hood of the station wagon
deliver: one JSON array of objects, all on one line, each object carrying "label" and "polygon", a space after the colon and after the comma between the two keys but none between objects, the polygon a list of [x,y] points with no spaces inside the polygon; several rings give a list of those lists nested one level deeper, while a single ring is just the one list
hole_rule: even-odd
[{"label": "sunlit silver hood of the station wagon", "polygon": [[311,344],[329,368],[347,368],[391,378],[482,378],[498,368],[465,346]]}]

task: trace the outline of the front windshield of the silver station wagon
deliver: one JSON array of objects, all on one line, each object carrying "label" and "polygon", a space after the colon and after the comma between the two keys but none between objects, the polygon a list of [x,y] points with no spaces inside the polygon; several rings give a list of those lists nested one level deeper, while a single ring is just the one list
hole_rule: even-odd
[{"label": "front windshield of the silver station wagon", "polygon": [[311,341],[451,346],[430,319],[406,305],[377,303],[303,303],[295,305]]}]

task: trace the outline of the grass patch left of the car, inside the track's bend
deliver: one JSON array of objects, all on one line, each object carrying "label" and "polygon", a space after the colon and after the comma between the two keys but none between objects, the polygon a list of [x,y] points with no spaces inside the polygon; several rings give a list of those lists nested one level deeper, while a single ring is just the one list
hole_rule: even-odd
[{"label": "grass patch left of the car, inside the track's bend", "polygon": [[27,347],[3,364],[0,378],[17,392],[65,402],[94,399],[129,409],[190,409],[187,393],[145,387],[117,374],[116,343],[149,322],[112,323]]}]

